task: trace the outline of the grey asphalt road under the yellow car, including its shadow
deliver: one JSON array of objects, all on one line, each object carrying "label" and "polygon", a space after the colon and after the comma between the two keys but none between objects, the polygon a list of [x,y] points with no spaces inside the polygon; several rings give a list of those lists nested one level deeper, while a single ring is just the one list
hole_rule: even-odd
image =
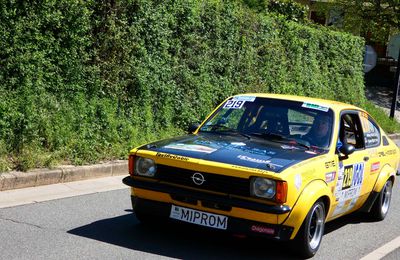
[{"label": "grey asphalt road under the yellow car, including its shadow", "polygon": [[[397,182],[384,221],[354,214],[327,223],[315,259],[367,255],[400,236],[399,216]],[[7,260],[295,258],[284,243],[235,238],[187,225],[141,225],[131,212],[126,188],[2,208],[0,241],[0,259]]]}]

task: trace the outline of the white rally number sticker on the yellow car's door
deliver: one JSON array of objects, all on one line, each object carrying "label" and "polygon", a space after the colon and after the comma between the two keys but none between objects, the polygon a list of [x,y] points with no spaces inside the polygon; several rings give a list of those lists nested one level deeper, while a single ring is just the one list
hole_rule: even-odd
[{"label": "white rally number sticker on the yellow car's door", "polygon": [[364,162],[343,166],[339,165],[338,181],[336,183],[336,201],[344,202],[357,199],[360,196],[364,181]]}]

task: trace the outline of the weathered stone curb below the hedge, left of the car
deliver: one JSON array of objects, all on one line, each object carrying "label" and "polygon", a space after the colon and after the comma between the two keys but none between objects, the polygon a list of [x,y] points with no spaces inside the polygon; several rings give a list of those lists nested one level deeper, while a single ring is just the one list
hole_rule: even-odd
[{"label": "weathered stone curb below the hedge, left of the car", "polygon": [[37,169],[28,172],[6,172],[0,174],[0,191],[116,175],[128,175],[128,161],[118,160],[85,166],[60,166],[55,169]]}]

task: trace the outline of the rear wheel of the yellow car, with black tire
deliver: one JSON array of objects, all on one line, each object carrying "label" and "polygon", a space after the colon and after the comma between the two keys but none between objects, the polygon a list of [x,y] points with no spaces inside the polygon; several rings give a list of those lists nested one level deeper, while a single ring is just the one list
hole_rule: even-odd
[{"label": "rear wheel of the yellow car, with black tire", "polygon": [[387,213],[389,212],[390,201],[392,198],[392,188],[393,183],[389,179],[379,192],[379,196],[372,206],[370,214],[373,219],[377,221],[385,219]]}]

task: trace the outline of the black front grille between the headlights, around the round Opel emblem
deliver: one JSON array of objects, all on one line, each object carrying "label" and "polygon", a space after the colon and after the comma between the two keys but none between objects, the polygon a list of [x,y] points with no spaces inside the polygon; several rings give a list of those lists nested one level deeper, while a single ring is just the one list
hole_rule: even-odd
[{"label": "black front grille between the headlights, around the round Opel emblem", "polygon": [[204,176],[204,182],[196,185],[192,176],[196,171],[175,168],[166,165],[157,165],[157,178],[161,181],[194,187],[208,191],[215,191],[239,196],[250,196],[249,180],[219,174],[199,172]]}]

